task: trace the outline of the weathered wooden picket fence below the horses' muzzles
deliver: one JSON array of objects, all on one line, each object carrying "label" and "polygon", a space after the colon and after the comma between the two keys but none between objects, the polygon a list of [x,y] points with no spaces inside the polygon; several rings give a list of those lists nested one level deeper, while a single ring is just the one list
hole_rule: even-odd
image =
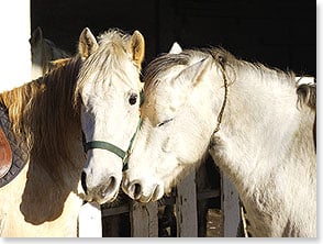
[{"label": "weathered wooden picket fence below the horses' muzzles", "polygon": [[[204,166],[202,165],[201,167]],[[143,204],[127,199],[124,203],[110,208],[86,203],[79,217],[79,237],[110,236],[102,232],[102,225],[104,229],[104,221],[102,220],[104,218],[110,218],[109,222],[115,222],[111,223],[111,228],[115,229],[112,234],[114,237],[122,236],[120,232],[124,232],[125,230],[122,229],[126,229],[126,226],[129,226],[130,231],[124,235],[132,237],[158,237],[165,236],[166,232],[166,236],[198,237],[199,234],[200,236],[207,236],[207,231],[203,230],[202,225],[207,226],[205,221],[208,218],[201,218],[201,215],[208,213],[208,201],[210,199],[213,202],[219,201],[219,212],[222,215],[216,220],[218,223],[213,221],[213,224],[222,228],[221,233],[223,236],[237,236],[241,213],[238,196],[234,187],[227,177],[221,173],[219,188],[199,189],[197,184],[201,181],[201,178],[203,180],[203,177],[205,177],[200,173],[201,170],[189,174],[179,182],[172,196],[163,199],[160,202]],[[201,208],[199,208],[200,202],[204,202]],[[169,224],[171,226],[168,226],[167,230],[160,230],[163,228],[160,221],[163,211],[160,212],[160,209],[163,208],[164,211],[166,209],[167,211],[170,210],[169,214],[172,214],[172,221],[176,221],[176,224]],[[125,220],[120,220],[122,214],[126,214]],[[124,221],[129,223],[125,224]],[[204,222],[202,223],[201,221]]]}]

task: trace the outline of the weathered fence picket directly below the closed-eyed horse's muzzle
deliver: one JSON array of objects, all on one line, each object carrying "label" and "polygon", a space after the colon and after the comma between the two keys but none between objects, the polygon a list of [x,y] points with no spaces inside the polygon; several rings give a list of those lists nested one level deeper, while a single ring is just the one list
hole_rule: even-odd
[{"label": "weathered fence picket directly below the closed-eyed horse's muzzle", "polygon": [[131,236],[158,237],[158,203],[131,202]]}]

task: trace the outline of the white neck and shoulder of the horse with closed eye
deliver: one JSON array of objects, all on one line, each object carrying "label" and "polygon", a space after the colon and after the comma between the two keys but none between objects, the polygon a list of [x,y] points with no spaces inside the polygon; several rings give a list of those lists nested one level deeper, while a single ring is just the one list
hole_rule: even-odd
[{"label": "white neck and shoulder of the horse with closed eye", "polygon": [[[215,134],[218,146],[210,153],[234,184],[250,233],[279,236],[285,234],[285,225],[279,224],[288,228],[302,221],[293,215],[296,207],[290,202],[298,202],[304,219],[312,218],[315,209],[315,114],[309,107],[297,108],[292,86],[261,87],[263,81],[255,80],[249,87],[252,80],[244,80],[231,86],[223,124]],[[299,232],[298,226],[293,230]]]}]

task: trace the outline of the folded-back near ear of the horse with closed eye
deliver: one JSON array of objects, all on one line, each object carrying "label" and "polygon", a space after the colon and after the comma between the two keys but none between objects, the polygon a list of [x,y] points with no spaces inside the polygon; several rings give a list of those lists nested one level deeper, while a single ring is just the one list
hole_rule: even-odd
[{"label": "folded-back near ear of the horse with closed eye", "polygon": [[[180,82],[185,82],[187,85],[196,86],[202,78],[202,75],[204,74],[205,69],[211,64],[210,58],[204,58],[186,69],[183,69],[175,80],[180,80]],[[189,82],[191,81],[191,82]]]}]

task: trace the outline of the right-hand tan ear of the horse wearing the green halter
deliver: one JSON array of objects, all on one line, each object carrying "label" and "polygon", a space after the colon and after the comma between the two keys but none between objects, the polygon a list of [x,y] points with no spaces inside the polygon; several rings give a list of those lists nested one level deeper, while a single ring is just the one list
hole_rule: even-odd
[{"label": "right-hand tan ear of the horse wearing the green halter", "polygon": [[145,56],[145,40],[142,33],[138,31],[134,31],[133,35],[131,36],[130,48],[132,52],[132,59],[141,69]]}]

